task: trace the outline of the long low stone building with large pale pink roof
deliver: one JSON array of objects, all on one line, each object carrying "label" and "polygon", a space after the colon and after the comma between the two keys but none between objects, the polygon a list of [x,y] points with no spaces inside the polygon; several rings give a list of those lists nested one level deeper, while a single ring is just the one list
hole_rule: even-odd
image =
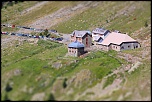
[{"label": "long low stone building with large pale pink roof", "polygon": [[127,34],[112,32],[101,42],[98,48],[109,51],[122,51],[127,49],[139,48],[140,44]]}]

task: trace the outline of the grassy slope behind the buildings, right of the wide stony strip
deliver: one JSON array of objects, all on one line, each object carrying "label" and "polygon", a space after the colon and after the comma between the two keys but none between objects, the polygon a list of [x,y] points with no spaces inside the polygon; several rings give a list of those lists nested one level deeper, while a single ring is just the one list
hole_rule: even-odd
[{"label": "grassy slope behind the buildings, right of the wide stony strip", "polygon": [[[119,3],[119,5],[118,5]],[[120,15],[114,19],[112,17],[126,6],[136,5],[136,9],[128,15]],[[109,10],[113,7],[112,10]],[[142,12],[142,13],[141,13]],[[133,15],[132,15],[133,14]],[[91,17],[91,16],[93,17]],[[70,20],[57,24],[53,29],[59,32],[72,33],[74,30],[93,30],[95,27],[105,27],[106,29],[116,29],[121,32],[132,33],[144,26],[145,21],[150,24],[150,4],[149,2],[102,2],[99,6],[89,8],[86,11],[72,17]],[[133,20],[136,18],[136,20]],[[106,20],[110,20],[109,24]],[[130,21],[130,23],[128,23]]]}]

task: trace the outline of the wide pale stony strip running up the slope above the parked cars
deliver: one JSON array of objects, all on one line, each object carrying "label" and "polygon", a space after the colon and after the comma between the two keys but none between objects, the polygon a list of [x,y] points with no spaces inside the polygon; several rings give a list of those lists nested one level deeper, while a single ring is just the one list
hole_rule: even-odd
[{"label": "wide pale stony strip running up the slope above the parked cars", "polygon": [[[82,13],[90,7],[97,6],[98,4],[98,2],[93,1],[83,1],[72,7],[61,8],[54,13],[48,14],[44,17],[37,19],[36,21],[32,22],[30,25],[27,26],[36,29],[49,29],[50,27],[58,23],[69,20],[74,15]],[[31,31],[27,29],[20,29],[18,32],[30,33]]]}]

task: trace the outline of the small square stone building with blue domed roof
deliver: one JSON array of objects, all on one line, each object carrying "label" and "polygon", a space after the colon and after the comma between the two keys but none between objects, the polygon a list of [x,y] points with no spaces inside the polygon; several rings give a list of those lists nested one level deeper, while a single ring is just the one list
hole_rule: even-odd
[{"label": "small square stone building with blue domed roof", "polygon": [[83,43],[74,41],[68,45],[68,55],[79,57],[84,54],[84,47],[85,45]]}]

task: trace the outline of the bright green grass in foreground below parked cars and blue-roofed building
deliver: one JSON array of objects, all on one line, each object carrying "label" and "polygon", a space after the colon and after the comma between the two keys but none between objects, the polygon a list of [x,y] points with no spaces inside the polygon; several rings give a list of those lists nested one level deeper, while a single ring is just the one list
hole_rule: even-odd
[{"label": "bright green grass in foreground below parked cars and blue-roofed building", "polygon": [[[46,46],[48,45],[52,46],[52,48],[46,48]],[[11,51],[12,49],[10,48],[9,50]],[[64,63],[65,60],[62,59],[62,56],[64,56],[65,53],[67,53],[67,48],[65,46],[61,46],[58,43],[49,42],[49,41],[40,40],[38,42],[38,45],[30,45],[30,46],[28,43],[25,42],[22,46],[15,48],[14,52],[15,53],[12,53],[7,56],[6,54],[9,52],[7,51],[2,52],[3,55],[2,80],[5,79],[5,76],[7,76],[8,73],[13,72],[15,69],[20,69],[22,72],[21,75],[14,76],[12,73],[10,74],[10,77],[8,77],[9,78],[8,80],[12,80],[14,82],[13,90],[10,93],[7,93],[11,100],[22,100],[25,98],[27,98],[26,100],[29,100],[34,93],[43,92],[44,90],[49,89],[56,81],[57,77],[69,77],[74,73],[78,73],[82,69],[89,69],[92,73],[91,75],[92,78],[93,76],[96,75],[96,78],[101,80],[103,76],[109,73],[109,71],[120,66],[119,61],[117,61],[114,58],[111,58],[110,56],[108,56],[106,53],[103,52],[97,52],[93,55],[90,54],[88,57],[86,57],[86,59],[70,58],[71,60],[78,59],[79,62],[67,66],[66,63]],[[12,57],[10,58],[10,56]],[[25,58],[23,60],[19,60],[21,58],[24,58],[25,56],[30,56],[30,57]],[[57,59],[57,57],[59,56],[61,56],[61,59]],[[5,62],[6,60],[7,62]],[[15,63],[16,60],[19,61]],[[51,63],[54,63],[56,61],[57,62],[61,61],[61,63],[64,63],[63,67],[60,69],[52,68]],[[7,65],[8,62],[9,65]],[[92,67],[90,67],[90,65],[88,65],[87,63],[90,63]],[[101,66],[101,63],[104,64]],[[43,68],[44,66],[47,67]],[[52,77],[49,81],[48,84],[49,86],[43,85],[43,83],[49,78],[48,76],[41,78],[41,81],[38,82],[36,81],[36,78],[38,76],[43,77],[42,73],[44,75],[48,74],[49,76]],[[8,80],[3,81],[2,84],[3,87],[8,82]],[[96,83],[95,80],[93,82]],[[33,87],[33,93],[26,95],[24,92],[22,92],[21,89],[24,85],[27,85],[28,88]],[[86,89],[84,85],[87,86],[87,84],[84,82],[82,84],[81,90]],[[78,92],[80,92],[80,89],[75,93]],[[23,94],[21,95],[21,93]],[[4,94],[2,97],[4,98]]]}]

